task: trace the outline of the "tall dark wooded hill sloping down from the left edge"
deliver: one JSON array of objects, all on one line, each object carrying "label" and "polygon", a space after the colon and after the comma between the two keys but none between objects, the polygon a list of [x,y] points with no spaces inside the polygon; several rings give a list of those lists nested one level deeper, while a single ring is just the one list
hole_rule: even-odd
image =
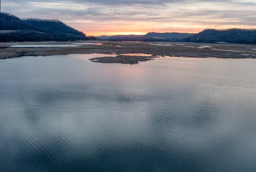
[{"label": "tall dark wooded hill sloping down from the left edge", "polygon": [[1,42],[7,41],[75,41],[88,37],[59,20],[20,19],[1,12]]}]

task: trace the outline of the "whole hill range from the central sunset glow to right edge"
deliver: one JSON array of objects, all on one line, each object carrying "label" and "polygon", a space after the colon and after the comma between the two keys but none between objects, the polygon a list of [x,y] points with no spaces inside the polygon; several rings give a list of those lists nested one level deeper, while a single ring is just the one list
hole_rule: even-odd
[{"label": "whole hill range from the central sunset glow to right edge", "polygon": [[98,36],[100,40],[116,41],[187,41],[205,43],[256,44],[256,29],[206,29],[197,34],[150,32],[145,35]]}]

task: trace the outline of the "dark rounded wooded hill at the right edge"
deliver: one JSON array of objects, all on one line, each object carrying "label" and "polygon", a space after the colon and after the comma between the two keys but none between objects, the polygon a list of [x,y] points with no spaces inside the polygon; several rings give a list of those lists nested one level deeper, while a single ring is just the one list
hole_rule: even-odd
[{"label": "dark rounded wooded hill at the right edge", "polygon": [[188,36],[187,41],[256,44],[256,29],[206,29],[198,34]]}]

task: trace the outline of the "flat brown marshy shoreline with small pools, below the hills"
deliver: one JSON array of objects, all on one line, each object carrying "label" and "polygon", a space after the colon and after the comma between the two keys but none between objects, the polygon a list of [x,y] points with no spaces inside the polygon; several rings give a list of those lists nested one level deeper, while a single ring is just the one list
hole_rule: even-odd
[{"label": "flat brown marshy shoreline with small pools, below the hills", "polygon": [[[84,45],[84,43],[89,45]],[[91,43],[100,42],[98,45]],[[9,48],[13,45],[73,45],[77,47],[45,48]],[[82,42],[1,42],[0,59],[22,56],[52,56],[68,54],[104,53],[117,54],[117,57],[100,57],[91,59],[103,63],[129,63],[153,60],[158,56],[197,57],[197,58],[256,58],[255,45],[243,44],[201,44],[193,42],[116,42],[116,41],[82,41]],[[125,56],[123,53],[143,53],[151,56]]]}]

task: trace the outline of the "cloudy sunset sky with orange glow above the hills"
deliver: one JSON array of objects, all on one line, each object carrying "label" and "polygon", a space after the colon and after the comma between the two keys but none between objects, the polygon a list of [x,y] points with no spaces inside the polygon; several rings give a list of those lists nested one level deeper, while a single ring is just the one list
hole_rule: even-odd
[{"label": "cloudy sunset sky with orange glow above the hills", "polygon": [[1,0],[1,12],[59,19],[88,36],[256,29],[256,0]]}]

